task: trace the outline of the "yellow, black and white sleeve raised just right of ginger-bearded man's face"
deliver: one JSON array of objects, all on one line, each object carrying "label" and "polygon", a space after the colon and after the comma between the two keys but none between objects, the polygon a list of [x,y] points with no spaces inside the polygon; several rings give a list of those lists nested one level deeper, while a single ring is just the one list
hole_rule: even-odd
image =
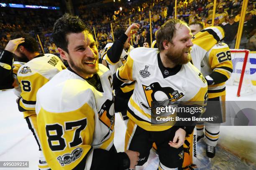
[{"label": "yellow, black and white sleeve raised just right of ginger-bearded man's face", "polygon": [[[192,64],[200,70],[200,64],[206,53],[215,45],[217,42],[222,40],[225,36],[224,30],[221,27],[207,27],[198,32],[193,37],[193,46],[191,50]],[[205,43],[207,42],[207,43]]]}]

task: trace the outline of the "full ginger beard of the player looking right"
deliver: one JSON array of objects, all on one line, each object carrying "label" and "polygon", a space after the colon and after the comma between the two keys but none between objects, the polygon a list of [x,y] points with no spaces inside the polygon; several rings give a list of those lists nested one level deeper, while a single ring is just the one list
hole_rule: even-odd
[{"label": "full ginger beard of the player looking right", "polygon": [[191,58],[190,54],[185,54],[186,51],[190,51],[190,48],[184,48],[183,50],[175,50],[174,48],[171,48],[166,53],[166,56],[169,60],[171,60],[173,63],[177,65],[187,64]]}]

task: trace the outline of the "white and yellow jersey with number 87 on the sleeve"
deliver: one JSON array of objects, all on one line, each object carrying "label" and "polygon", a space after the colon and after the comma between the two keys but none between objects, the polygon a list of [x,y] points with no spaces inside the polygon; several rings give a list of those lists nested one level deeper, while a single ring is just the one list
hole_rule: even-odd
[{"label": "white and yellow jersey with number 87 on the sleeve", "polygon": [[90,170],[92,148],[109,150],[113,146],[113,76],[101,64],[97,74],[103,91],[68,69],[38,90],[39,137],[52,169],[71,170],[87,156],[85,169]]}]

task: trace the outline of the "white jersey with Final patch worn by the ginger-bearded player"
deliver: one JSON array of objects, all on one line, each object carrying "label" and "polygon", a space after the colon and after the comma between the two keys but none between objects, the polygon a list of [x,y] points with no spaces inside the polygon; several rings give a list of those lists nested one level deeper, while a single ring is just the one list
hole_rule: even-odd
[{"label": "white jersey with Final patch worn by the ginger-bearded player", "polygon": [[161,131],[171,126],[151,125],[151,102],[207,101],[207,82],[190,62],[175,68],[163,66],[156,48],[134,49],[117,72],[122,81],[136,81],[128,103],[128,117],[148,131]]}]

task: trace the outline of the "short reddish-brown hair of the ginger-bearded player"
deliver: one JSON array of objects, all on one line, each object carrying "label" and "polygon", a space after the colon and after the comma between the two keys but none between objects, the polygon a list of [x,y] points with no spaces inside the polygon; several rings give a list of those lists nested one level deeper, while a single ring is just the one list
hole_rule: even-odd
[{"label": "short reddish-brown hair of the ginger-bearded player", "polygon": [[176,31],[177,31],[176,25],[177,24],[187,25],[187,23],[185,23],[182,20],[171,19],[171,20],[168,20],[166,23],[164,23],[164,25],[161,25],[160,29],[157,30],[157,32],[156,32],[156,44],[157,44],[157,47],[160,51],[164,50],[163,42],[165,40],[172,43],[172,39],[176,35]]}]

